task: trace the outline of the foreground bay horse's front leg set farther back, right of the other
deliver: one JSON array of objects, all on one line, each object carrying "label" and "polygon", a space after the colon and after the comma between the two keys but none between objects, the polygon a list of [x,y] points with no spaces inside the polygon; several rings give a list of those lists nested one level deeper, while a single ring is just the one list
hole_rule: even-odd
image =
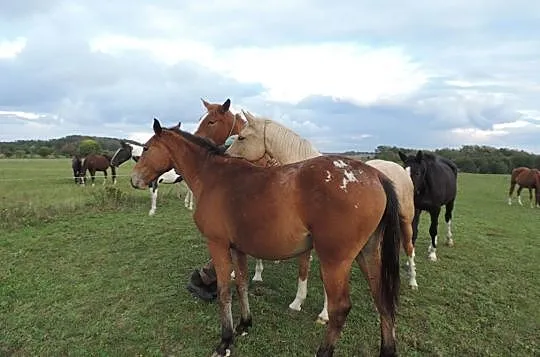
[{"label": "foreground bay horse's front leg set farther back, right of the other", "polygon": [[247,283],[247,256],[245,253],[231,249],[234,270],[238,272],[236,275],[236,292],[240,301],[240,323],[236,325],[235,334],[245,336],[248,334],[248,329],[251,327],[251,312],[249,311],[248,300],[248,283]]}]

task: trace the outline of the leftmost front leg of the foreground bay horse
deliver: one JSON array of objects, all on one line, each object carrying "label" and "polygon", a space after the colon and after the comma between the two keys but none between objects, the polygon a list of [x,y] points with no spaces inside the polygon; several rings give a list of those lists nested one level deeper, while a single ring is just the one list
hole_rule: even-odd
[{"label": "leftmost front leg of the foreground bay horse", "polygon": [[221,319],[221,341],[216,346],[212,357],[225,357],[230,356],[231,346],[234,343],[232,296],[229,287],[232,271],[231,250],[228,244],[219,244],[214,241],[208,241],[207,245],[216,269],[219,315]]}]

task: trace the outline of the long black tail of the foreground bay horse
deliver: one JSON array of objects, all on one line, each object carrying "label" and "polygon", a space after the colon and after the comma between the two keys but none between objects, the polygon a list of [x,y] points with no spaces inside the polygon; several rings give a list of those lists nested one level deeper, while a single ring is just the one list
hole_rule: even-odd
[{"label": "long black tail of the foreground bay horse", "polygon": [[381,177],[380,180],[386,193],[386,209],[379,227],[384,232],[381,245],[380,293],[382,305],[394,319],[399,302],[401,283],[399,276],[399,248],[401,242],[399,201],[392,182],[385,177]]}]

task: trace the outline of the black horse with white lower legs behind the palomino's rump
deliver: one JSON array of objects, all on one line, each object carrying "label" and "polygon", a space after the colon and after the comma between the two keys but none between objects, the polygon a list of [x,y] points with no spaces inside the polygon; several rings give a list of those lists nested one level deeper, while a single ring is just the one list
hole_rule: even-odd
[{"label": "black horse with white lower legs behind the palomino's rump", "polygon": [[422,211],[429,212],[431,225],[429,234],[431,244],[428,248],[429,259],[437,260],[437,227],[441,207],[445,206],[446,244],[454,245],[452,239],[452,210],[457,194],[457,166],[450,160],[430,153],[418,151],[416,155],[405,155],[401,151],[399,157],[409,171],[414,185],[415,214],[413,220],[413,245],[418,237],[418,223]]}]

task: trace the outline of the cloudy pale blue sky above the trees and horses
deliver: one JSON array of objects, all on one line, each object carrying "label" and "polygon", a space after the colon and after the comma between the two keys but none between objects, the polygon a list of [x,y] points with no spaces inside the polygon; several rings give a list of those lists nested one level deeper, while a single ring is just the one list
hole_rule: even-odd
[{"label": "cloudy pale blue sky above the trees and horses", "polygon": [[0,3],[0,141],[193,131],[202,97],[321,151],[540,153],[540,2]]}]

